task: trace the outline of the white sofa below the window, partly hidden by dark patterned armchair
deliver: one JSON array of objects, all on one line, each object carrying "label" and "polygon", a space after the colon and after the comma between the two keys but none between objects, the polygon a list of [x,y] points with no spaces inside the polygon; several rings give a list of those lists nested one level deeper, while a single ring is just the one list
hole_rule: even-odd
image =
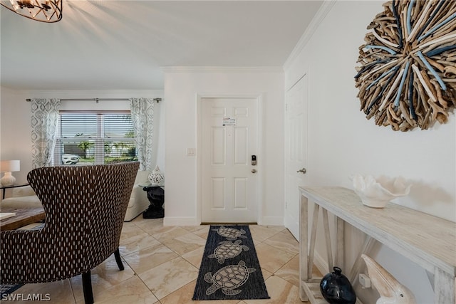
[{"label": "white sofa below the window, partly hidden by dark patterned armchair", "polygon": [[[135,185],[131,192],[130,201],[128,202],[127,213],[125,214],[124,221],[131,221],[136,216],[140,215],[142,211],[147,209],[150,202],[147,199],[147,192],[142,188],[149,184],[147,177],[148,171],[138,171],[135,179]],[[30,186],[11,188],[11,196],[0,201],[1,208],[36,208],[41,205],[41,201],[36,196],[35,192]]]}]

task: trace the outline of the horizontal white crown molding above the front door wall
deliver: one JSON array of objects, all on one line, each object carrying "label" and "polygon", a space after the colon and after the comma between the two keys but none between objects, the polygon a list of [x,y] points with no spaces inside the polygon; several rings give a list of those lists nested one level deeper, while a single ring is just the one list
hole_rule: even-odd
[{"label": "horizontal white crown molding above the front door wall", "polygon": [[281,66],[164,66],[163,73],[284,73]]}]

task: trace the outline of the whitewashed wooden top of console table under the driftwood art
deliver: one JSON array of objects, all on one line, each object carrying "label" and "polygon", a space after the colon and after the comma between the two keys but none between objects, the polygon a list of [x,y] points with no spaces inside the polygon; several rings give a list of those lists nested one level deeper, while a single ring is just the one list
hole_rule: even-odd
[{"label": "whitewashed wooden top of console table under the driftwood art", "polygon": [[405,206],[364,206],[343,187],[299,187],[301,194],[348,224],[411,258],[429,271],[437,266],[455,276],[456,223]]}]

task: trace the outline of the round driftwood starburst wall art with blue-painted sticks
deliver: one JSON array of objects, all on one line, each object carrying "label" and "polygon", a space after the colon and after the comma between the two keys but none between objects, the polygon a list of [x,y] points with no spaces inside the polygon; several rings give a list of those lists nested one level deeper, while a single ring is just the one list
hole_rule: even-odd
[{"label": "round driftwood starburst wall art with blue-painted sticks", "polygon": [[389,1],[368,25],[355,76],[376,125],[422,130],[456,105],[456,1]]}]

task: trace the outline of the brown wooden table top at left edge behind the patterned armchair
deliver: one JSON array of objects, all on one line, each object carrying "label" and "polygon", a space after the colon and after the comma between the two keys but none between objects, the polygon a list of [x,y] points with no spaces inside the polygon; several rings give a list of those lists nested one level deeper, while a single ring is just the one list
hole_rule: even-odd
[{"label": "brown wooden table top at left edge behind the patterned armchair", "polygon": [[1,212],[14,212],[15,216],[0,221],[0,231],[14,230],[42,221],[45,218],[43,208],[1,208]]}]

